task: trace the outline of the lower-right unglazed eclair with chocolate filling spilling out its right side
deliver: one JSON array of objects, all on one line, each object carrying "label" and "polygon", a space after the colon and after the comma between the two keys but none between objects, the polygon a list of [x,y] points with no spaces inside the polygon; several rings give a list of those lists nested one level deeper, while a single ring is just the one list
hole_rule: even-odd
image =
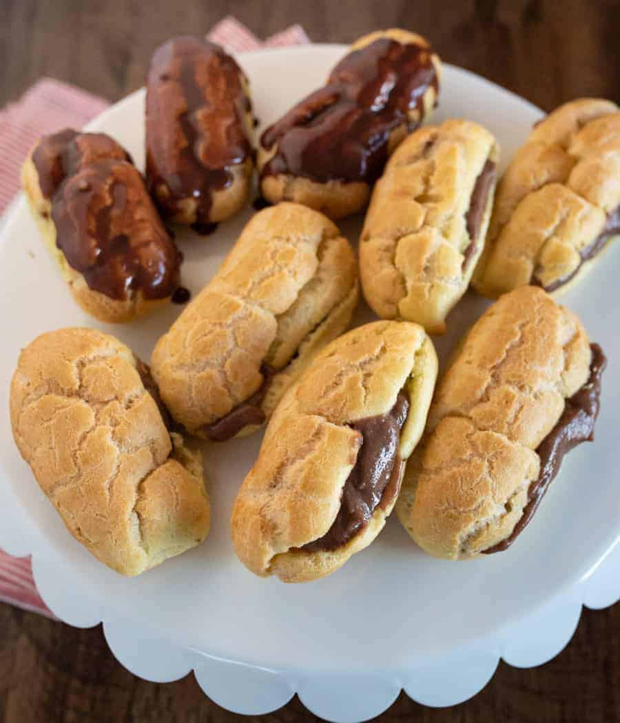
[{"label": "lower-right unglazed eclair with chocolate filling spilling out its right side", "polygon": [[564,454],[593,440],[605,364],[541,288],[488,309],[438,385],[407,466],[396,511],[415,542],[449,560],[509,547]]}]

